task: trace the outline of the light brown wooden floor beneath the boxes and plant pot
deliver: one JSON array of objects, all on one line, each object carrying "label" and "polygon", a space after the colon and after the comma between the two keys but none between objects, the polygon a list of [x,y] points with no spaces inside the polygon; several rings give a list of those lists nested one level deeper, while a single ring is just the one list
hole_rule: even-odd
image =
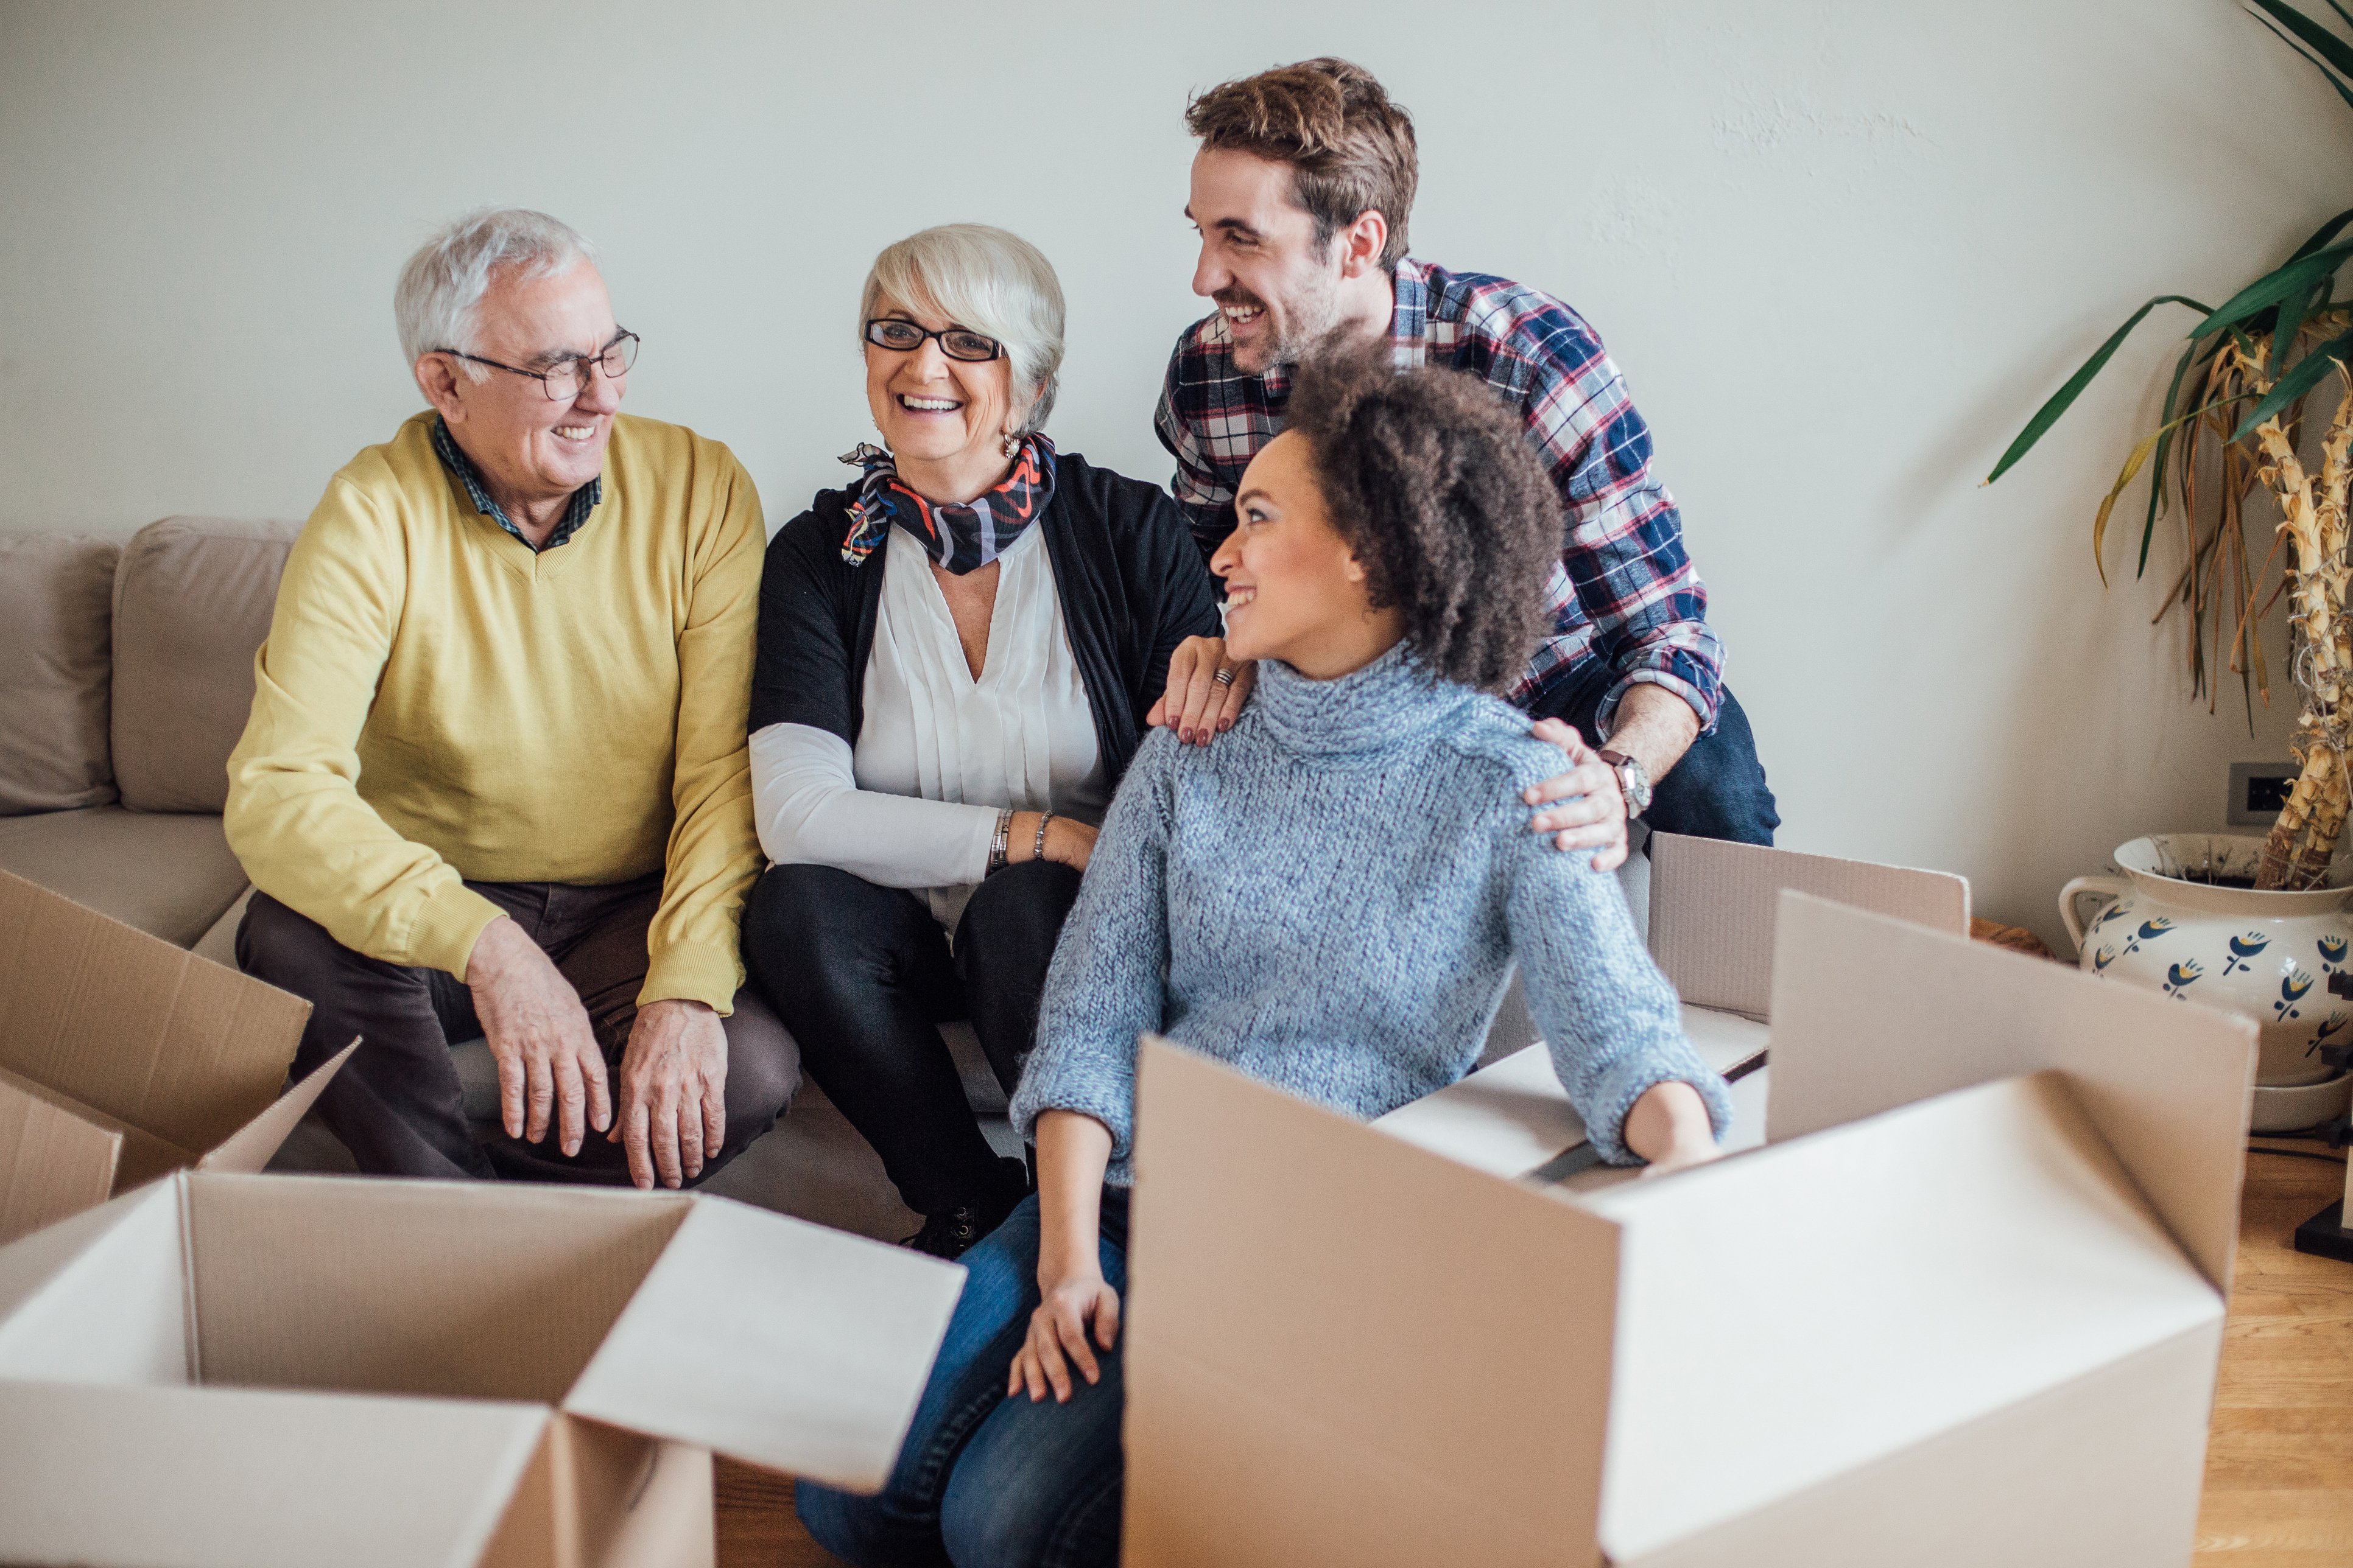
[{"label": "light brown wooden floor beneath the boxes and plant pot", "polygon": [[[2200,1568],[2353,1566],[2353,1262],[2289,1246],[2341,1192],[2344,1166],[2247,1154]],[[720,1460],[718,1519],[720,1568],[835,1561],[800,1533],[781,1476]]]}]

